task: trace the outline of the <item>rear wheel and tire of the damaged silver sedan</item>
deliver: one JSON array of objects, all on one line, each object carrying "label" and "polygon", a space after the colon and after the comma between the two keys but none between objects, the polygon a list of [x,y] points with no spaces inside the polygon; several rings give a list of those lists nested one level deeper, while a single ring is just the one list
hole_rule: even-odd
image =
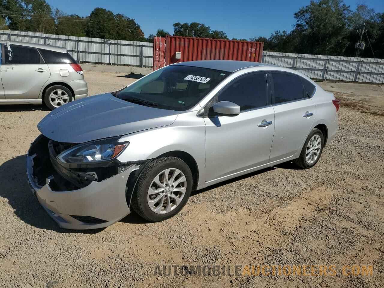
[{"label": "rear wheel and tire of the damaged silver sedan", "polygon": [[[313,148],[311,150],[311,148],[308,147],[308,143],[311,141],[311,139],[316,139],[316,140],[314,140],[315,142],[311,142],[312,146],[313,146],[313,144],[316,144],[318,142],[320,143],[321,146],[319,147],[320,148],[319,150],[318,149],[313,150]],[[320,141],[318,141],[318,139],[320,139]],[[317,147],[317,145],[318,144],[316,144],[314,147]],[[310,134],[308,134],[308,137],[305,140],[305,143],[304,143],[303,149],[301,150],[299,158],[295,159],[293,162],[297,166],[299,166],[299,167],[301,167],[303,169],[312,168],[319,161],[320,156],[321,156],[321,152],[323,152],[323,147],[324,147],[324,136],[323,136],[323,133],[319,129],[314,128],[314,129],[312,129]],[[307,148],[309,148],[308,151],[317,151],[317,153],[316,152],[312,152],[312,153],[308,152],[307,153]],[[318,154],[317,157],[316,157],[316,154]],[[309,157],[310,159],[308,161],[306,156],[309,156],[309,155],[310,156],[313,155],[313,157]]]}]

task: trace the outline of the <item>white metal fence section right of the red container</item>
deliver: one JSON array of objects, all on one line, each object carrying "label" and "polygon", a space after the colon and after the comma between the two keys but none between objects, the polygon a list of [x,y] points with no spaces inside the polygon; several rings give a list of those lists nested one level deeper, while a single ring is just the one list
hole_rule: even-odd
[{"label": "white metal fence section right of the red container", "polygon": [[384,83],[384,59],[263,51],[262,61],[297,70],[319,81]]}]

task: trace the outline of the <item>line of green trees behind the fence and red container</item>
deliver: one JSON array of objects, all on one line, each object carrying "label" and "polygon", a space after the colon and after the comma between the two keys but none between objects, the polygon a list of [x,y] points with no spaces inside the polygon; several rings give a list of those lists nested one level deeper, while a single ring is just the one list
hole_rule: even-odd
[{"label": "line of green trees behind the fence and red container", "polygon": [[[100,7],[87,17],[52,11],[45,0],[2,0],[0,9],[5,14],[0,17],[1,29],[148,42],[154,37],[145,38],[133,18]],[[290,33],[275,30],[269,38],[249,40],[264,42],[265,51],[384,58],[384,13],[367,5],[360,4],[352,11],[343,0],[310,0],[294,17],[296,23]],[[369,25],[366,30],[362,30],[364,23]],[[173,28],[175,36],[228,39],[224,31],[211,30],[203,23],[176,22]],[[158,29],[155,35],[166,37],[170,33]],[[360,40],[365,43],[364,50],[355,48]]]}]

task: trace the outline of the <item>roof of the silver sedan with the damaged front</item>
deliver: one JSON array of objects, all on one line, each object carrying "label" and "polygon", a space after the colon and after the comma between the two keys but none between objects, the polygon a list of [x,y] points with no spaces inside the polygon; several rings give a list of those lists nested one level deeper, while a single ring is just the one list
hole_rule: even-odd
[{"label": "roof of the silver sedan with the damaged front", "polygon": [[222,70],[227,72],[235,72],[237,70],[254,67],[254,66],[274,66],[270,64],[258,63],[258,62],[248,62],[248,61],[236,61],[236,60],[202,60],[202,61],[188,61],[180,62],[172,65],[181,65],[181,66],[194,66],[201,68],[209,68]]}]

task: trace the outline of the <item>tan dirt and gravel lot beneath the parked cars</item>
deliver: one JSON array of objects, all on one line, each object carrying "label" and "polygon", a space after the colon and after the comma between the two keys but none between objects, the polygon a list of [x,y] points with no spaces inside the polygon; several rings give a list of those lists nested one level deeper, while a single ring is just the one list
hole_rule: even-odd
[{"label": "tan dirt and gravel lot beneath the parked cars", "polygon": [[[134,81],[85,75],[90,94]],[[282,164],[194,192],[165,222],[132,213],[105,229],[72,231],[51,220],[26,184],[25,154],[48,111],[0,107],[0,287],[383,287],[384,117],[352,108],[341,107],[339,132],[313,169]],[[373,276],[344,276],[354,264],[372,265]],[[189,273],[154,276],[156,265]],[[269,267],[258,276],[228,276],[227,266],[224,276],[199,276],[190,265]],[[284,265],[307,265],[306,273],[279,274]],[[305,276],[311,265],[312,275],[334,265],[336,276],[329,268]]]}]

